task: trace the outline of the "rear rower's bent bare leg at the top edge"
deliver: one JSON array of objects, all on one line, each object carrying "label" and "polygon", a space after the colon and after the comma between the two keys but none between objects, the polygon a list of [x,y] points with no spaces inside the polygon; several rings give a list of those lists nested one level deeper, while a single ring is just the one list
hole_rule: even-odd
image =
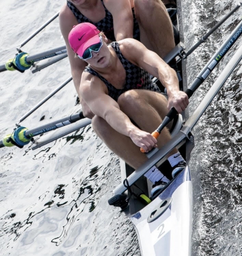
[{"label": "rear rower's bent bare leg at the top edge", "polygon": [[172,23],[161,0],[134,0],[140,41],[161,58],[175,47]]}]

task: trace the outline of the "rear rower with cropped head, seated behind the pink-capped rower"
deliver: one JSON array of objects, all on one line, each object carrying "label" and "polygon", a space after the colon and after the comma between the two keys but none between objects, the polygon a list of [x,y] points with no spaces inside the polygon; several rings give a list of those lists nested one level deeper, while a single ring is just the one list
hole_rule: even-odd
[{"label": "rear rower with cropped head, seated behind the pink-capped rower", "polygon": [[[173,0],[163,2],[174,6]],[[74,58],[75,54],[68,43],[68,34],[74,25],[90,22],[105,33],[108,42],[135,38],[161,58],[175,46],[172,23],[161,0],[68,0],[60,10],[59,20],[73,82],[82,104],[83,114],[88,118],[92,118],[94,114],[82,100],[79,92],[81,74],[87,62]]]}]

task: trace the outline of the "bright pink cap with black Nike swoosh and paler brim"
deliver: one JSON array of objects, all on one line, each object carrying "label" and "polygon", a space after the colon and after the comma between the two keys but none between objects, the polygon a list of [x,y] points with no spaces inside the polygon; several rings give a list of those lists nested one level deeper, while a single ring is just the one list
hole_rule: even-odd
[{"label": "bright pink cap with black Nike swoosh and paler brim", "polygon": [[68,36],[70,47],[76,54],[82,56],[87,48],[100,42],[99,33],[96,26],[88,22],[73,26]]}]

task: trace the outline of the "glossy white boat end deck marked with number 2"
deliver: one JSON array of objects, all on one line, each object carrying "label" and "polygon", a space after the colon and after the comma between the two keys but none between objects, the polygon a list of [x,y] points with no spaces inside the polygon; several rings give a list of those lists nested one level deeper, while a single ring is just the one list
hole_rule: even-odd
[{"label": "glossy white boat end deck marked with number 2", "polygon": [[[170,202],[168,208],[149,223],[149,216],[156,209],[157,213],[165,201],[166,206]],[[192,182],[189,167],[186,166],[155,200],[129,217],[136,228],[143,256],[189,256],[192,234]]]}]

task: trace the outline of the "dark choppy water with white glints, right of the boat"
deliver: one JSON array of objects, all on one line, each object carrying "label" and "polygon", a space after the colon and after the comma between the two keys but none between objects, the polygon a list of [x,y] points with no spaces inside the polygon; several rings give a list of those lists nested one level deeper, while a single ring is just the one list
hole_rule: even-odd
[{"label": "dark choppy water with white glints, right of the boat", "polygon": [[[239,1],[192,1],[187,8],[193,26],[188,28],[187,44],[194,42],[214,26]],[[185,4],[185,5],[186,5]],[[240,21],[238,10],[203,44],[188,61],[190,81],[226,40]],[[241,39],[233,46],[236,50]],[[198,102],[206,94],[234,51],[196,92]],[[204,58],[201,58],[204,57]],[[199,61],[198,61],[199,60]],[[230,76],[218,96],[195,128],[196,146],[192,152],[194,179],[193,255],[242,255],[242,67]],[[190,103],[193,110],[198,102]]]}]

